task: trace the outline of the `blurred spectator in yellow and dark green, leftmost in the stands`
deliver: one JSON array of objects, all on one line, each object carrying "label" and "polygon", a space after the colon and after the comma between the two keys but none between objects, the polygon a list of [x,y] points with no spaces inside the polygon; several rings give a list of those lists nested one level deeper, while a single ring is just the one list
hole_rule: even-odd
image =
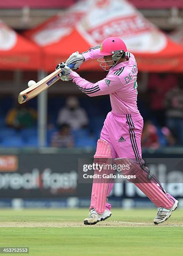
[{"label": "blurred spectator in yellow and dark green, leftmost in the stands", "polygon": [[17,106],[9,110],[6,116],[6,125],[12,128],[30,128],[36,124],[37,113],[26,105]]}]

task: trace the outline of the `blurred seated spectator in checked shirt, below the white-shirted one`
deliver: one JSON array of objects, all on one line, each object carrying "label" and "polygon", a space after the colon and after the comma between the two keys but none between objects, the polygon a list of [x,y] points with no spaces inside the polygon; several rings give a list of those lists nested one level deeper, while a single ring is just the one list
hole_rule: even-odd
[{"label": "blurred seated spectator in checked shirt, below the white-shirted one", "polygon": [[51,147],[73,148],[74,137],[71,135],[71,128],[68,124],[62,124],[58,132],[51,136]]}]

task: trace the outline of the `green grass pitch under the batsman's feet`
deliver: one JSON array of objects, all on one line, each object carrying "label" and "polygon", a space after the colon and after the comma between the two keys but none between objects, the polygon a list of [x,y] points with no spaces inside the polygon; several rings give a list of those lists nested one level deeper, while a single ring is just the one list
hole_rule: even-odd
[{"label": "green grass pitch under the batsman's feet", "polygon": [[111,218],[85,226],[87,209],[1,209],[0,247],[41,256],[183,255],[183,210],[153,225],[156,212],[112,209]]}]

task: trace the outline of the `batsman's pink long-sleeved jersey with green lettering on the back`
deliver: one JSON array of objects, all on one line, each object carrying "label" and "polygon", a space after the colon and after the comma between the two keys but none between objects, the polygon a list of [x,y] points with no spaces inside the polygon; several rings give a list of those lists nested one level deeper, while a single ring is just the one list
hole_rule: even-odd
[{"label": "batsman's pink long-sleeved jersey with green lettering on the back", "polygon": [[[97,59],[100,46],[82,53],[85,61]],[[110,95],[112,111],[119,114],[139,113],[137,108],[137,63],[133,54],[126,52],[127,61],[112,67],[105,79],[91,83],[72,71],[71,78],[77,87],[88,96]]]}]

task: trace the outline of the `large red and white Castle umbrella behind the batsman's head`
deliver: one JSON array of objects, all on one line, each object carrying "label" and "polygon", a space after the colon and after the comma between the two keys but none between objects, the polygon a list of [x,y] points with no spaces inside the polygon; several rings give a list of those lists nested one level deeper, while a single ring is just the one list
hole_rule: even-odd
[{"label": "large red and white Castle umbrella behind the batsman's head", "polygon": [[[183,69],[183,47],[150,23],[126,0],[86,0],[60,18],[26,35],[42,47],[46,70],[53,70],[74,51],[86,51],[110,36],[122,38],[135,54],[139,70],[166,72]],[[100,69],[87,61],[81,69]]]}]

